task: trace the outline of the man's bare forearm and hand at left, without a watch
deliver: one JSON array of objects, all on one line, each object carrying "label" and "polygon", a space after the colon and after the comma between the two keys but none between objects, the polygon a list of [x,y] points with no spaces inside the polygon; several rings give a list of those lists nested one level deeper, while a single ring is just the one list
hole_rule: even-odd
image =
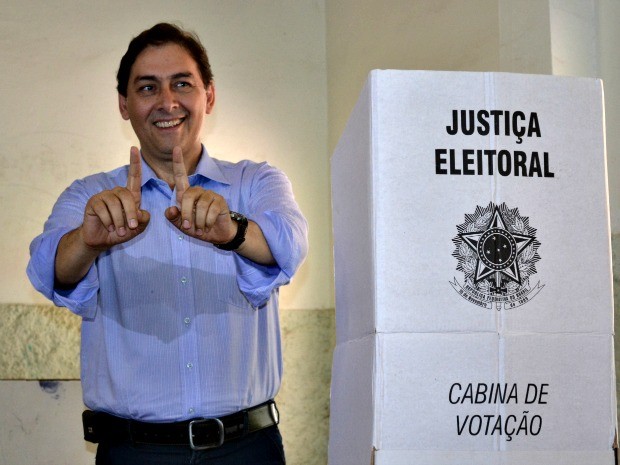
[{"label": "man's bare forearm and hand at left, without a watch", "polygon": [[140,151],[130,152],[127,187],[92,196],[84,209],[84,222],[65,234],[58,244],[55,261],[56,285],[77,284],[104,250],[127,242],[142,233],[150,215],[140,210],[142,165]]}]

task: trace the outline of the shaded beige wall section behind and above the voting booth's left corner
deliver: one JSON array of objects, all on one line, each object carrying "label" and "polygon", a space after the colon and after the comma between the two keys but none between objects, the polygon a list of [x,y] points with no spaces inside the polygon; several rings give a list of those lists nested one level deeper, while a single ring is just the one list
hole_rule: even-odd
[{"label": "shaded beige wall section behind and above the voting booth's left corner", "polygon": [[372,69],[499,70],[497,0],[327,0],[330,153]]}]

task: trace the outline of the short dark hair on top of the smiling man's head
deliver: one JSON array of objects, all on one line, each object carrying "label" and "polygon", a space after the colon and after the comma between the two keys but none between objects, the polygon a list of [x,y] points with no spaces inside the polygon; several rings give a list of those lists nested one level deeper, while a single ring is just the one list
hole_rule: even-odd
[{"label": "short dark hair on top of the smiling man's head", "polygon": [[177,44],[187,50],[196,62],[205,86],[209,85],[213,80],[213,73],[211,72],[207,51],[200,43],[198,36],[194,33],[186,32],[174,24],[159,23],[141,32],[140,35],[134,37],[129,43],[127,52],[121,58],[118,73],[116,74],[116,81],[118,83],[116,89],[119,94],[127,97],[127,85],[129,84],[131,67],[138,55],[148,46],[158,46],[167,43]]}]

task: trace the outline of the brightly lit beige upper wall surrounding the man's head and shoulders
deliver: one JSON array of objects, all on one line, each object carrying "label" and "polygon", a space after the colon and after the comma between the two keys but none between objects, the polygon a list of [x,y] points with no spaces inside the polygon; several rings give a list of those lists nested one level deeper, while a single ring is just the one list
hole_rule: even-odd
[{"label": "brightly lit beige upper wall surrounding the man's head and shoulders", "polygon": [[0,33],[0,302],[40,303],[28,244],[74,179],[128,161],[115,75],[129,40],[158,21],[196,31],[210,54],[216,108],[204,141],[216,157],[267,160],[291,178],[310,253],[284,308],[332,305],[322,1],[4,0]]}]

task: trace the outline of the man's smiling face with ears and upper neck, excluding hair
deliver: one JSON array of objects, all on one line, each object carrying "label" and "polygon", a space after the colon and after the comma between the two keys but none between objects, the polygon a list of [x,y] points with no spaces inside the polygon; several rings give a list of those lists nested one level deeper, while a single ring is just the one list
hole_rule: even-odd
[{"label": "man's smiling face with ears and upper neck, excluding hair", "polygon": [[140,140],[147,161],[170,161],[180,146],[185,157],[200,154],[200,133],[215,102],[212,83],[205,85],[196,62],[181,46],[149,46],[134,62],[127,97],[119,108]]}]

